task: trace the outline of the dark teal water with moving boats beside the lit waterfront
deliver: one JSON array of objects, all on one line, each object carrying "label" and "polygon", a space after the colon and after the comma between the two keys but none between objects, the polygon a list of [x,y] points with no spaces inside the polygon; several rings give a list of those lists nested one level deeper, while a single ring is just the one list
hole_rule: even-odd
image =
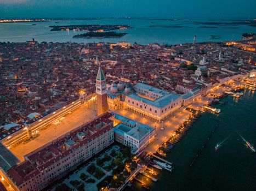
[{"label": "dark teal water with moving boats beside the lit waterfront", "polygon": [[[231,96],[221,101],[224,100],[229,102],[216,105],[221,114],[204,113],[167,154],[166,159],[174,163],[175,169],[172,174],[163,170],[157,183],[148,181],[150,190],[256,190],[256,153],[244,146],[237,134],[256,145],[256,97],[246,91],[238,100]],[[221,122],[191,167],[193,158],[218,123],[211,117],[218,117]],[[217,142],[229,135],[216,152]],[[133,183],[133,187],[144,190],[138,183]]]}]

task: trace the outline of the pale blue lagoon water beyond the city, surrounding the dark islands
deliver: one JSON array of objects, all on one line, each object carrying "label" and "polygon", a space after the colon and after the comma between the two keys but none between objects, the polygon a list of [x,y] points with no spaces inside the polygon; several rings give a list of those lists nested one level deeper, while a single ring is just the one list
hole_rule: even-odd
[{"label": "pale blue lagoon water beyond the city, surrounding the dark islands", "polygon": [[[58,22],[58,23],[56,23]],[[218,20],[156,20],[156,19],[95,19],[95,20],[54,20],[47,22],[20,22],[20,23],[0,23],[0,42],[24,42],[26,40],[77,43],[88,42],[117,42],[128,41],[138,44],[179,44],[192,43],[194,35],[197,41],[225,41],[241,40],[242,33],[256,32],[256,27],[248,25],[204,25],[196,22],[235,22]],[[32,25],[36,24],[36,25]],[[73,39],[75,34],[84,31],[50,31],[49,26],[53,25],[131,25],[134,28],[122,30],[128,33],[121,38],[105,39]],[[211,28],[209,28],[211,27]],[[118,31],[117,31],[118,32]],[[220,35],[219,39],[211,39],[211,35]]]}]

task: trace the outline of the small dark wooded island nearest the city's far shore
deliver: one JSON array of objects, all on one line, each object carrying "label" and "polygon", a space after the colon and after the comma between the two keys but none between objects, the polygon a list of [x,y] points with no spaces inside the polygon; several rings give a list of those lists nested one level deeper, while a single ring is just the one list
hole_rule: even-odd
[{"label": "small dark wooded island nearest the city's far shore", "polygon": [[73,38],[120,38],[127,33],[117,33],[117,32],[88,32],[83,34],[76,34]]}]

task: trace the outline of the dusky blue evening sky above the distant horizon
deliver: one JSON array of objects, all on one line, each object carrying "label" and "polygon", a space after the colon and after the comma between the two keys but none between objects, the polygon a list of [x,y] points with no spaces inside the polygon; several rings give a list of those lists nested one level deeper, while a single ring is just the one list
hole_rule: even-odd
[{"label": "dusky blue evening sky above the distant horizon", "polygon": [[0,17],[256,17],[256,0],[0,0]]}]

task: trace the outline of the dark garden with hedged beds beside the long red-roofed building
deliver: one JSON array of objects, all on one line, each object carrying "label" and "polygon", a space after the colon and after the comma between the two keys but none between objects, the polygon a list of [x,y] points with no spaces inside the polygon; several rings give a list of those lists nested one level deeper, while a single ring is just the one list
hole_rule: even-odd
[{"label": "dark garden with hedged beds beside the long red-roofed building", "polygon": [[56,186],[55,190],[118,188],[137,168],[137,164],[132,158],[128,147],[114,145],[73,172]]}]

